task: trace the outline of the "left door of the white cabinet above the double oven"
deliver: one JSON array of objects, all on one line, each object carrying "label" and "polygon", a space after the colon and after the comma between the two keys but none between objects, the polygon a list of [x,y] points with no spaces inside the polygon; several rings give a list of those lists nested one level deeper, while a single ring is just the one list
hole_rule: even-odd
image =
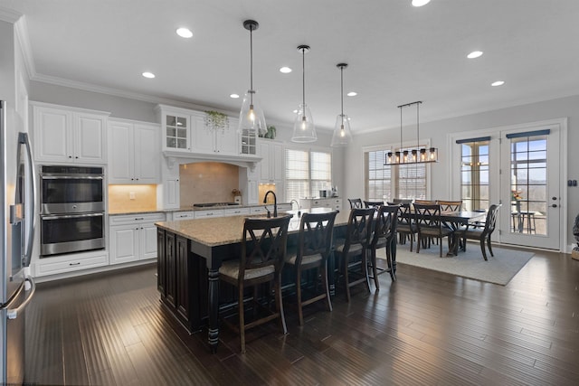
[{"label": "left door of the white cabinet above the double oven", "polygon": [[71,157],[72,113],[34,107],[34,155],[37,161],[68,162]]}]

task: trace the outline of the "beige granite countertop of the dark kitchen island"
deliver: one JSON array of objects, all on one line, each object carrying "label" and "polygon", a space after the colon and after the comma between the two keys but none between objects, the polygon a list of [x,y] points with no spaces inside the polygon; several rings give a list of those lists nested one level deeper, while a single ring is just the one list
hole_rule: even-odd
[{"label": "beige granite countertop of the dark kitchen island", "polygon": [[[329,208],[315,208],[302,210],[301,212],[332,212]],[[299,231],[298,211],[283,212],[291,214],[293,217],[289,221],[289,233]],[[283,214],[280,213],[280,216]],[[346,225],[349,218],[349,211],[338,212],[335,225]],[[280,217],[279,216],[279,217]],[[166,231],[171,231],[208,247],[233,244],[241,242],[243,221],[248,216],[214,217],[209,219],[194,219],[184,221],[163,221],[157,222],[157,227]],[[256,216],[257,217],[257,216]],[[216,231],[219,230],[219,231]]]}]

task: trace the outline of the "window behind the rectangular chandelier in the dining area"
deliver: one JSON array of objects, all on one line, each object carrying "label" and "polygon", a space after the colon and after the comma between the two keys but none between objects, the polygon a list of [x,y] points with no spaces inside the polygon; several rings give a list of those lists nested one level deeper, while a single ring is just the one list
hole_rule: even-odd
[{"label": "window behind the rectangular chandelier in the dining area", "polygon": [[384,156],[389,151],[378,149],[365,152],[366,199],[385,202],[391,202],[394,198],[425,199],[426,164],[385,166]]}]

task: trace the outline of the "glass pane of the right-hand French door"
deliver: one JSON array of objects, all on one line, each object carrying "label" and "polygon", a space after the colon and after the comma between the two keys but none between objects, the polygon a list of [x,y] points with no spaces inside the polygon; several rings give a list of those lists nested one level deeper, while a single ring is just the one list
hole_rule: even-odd
[{"label": "glass pane of the right-hand French door", "polygon": [[510,138],[511,232],[546,235],[546,139]]}]

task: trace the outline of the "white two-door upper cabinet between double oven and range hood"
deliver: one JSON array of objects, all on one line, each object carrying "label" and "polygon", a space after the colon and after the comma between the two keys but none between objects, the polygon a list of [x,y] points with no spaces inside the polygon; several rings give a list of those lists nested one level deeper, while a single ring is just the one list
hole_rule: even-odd
[{"label": "white two-door upper cabinet between double oven and range hood", "polygon": [[109,184],[158,184],[159,127],[109,119]]}]

